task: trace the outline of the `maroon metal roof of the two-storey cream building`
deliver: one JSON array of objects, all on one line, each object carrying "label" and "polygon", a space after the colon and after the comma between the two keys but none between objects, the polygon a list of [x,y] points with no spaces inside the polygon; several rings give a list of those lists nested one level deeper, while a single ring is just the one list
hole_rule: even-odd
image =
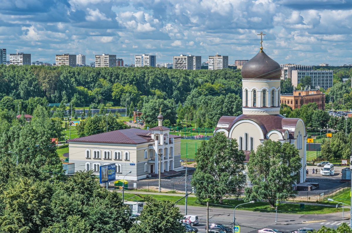
[{"label": "maroon metal roof of the two-storey cream building", "polygon": [[[169,138],[181,138],[181,137],[170,134]],[[81,142],[90,142],[90,143],[140,144],[140,143],[149,143],[154,140],[151,138],[150,130],[142,130],[139,128],[129,128],[125,130],[115,130],[115,131],[110,131],[105,133],[89,135],[81,138],[74,138],[68,141],[69,142],[81,141]]]}]

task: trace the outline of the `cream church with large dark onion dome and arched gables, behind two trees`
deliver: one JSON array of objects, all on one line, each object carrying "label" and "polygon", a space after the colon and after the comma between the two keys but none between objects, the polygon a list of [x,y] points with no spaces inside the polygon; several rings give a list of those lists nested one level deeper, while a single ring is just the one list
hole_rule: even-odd
[{"label": "cream church with large dark onion dome and arched gables, behind two trees", "polygon": [[[242,112],[232,117],[222,116],[214,133],[224,132],[228,138],[238,141],[239,149],[249,161],[252,150],[271,139],[295,145],[301,157],[302,168],[297,171],[306,180],[307,131],[300,118],[285,118],[280,114],[280,65],[266,55],[263,48],[242,69]],[[245,174],[247,171],[245,171]],[[247,186],[251,186],[247,181]]]}]

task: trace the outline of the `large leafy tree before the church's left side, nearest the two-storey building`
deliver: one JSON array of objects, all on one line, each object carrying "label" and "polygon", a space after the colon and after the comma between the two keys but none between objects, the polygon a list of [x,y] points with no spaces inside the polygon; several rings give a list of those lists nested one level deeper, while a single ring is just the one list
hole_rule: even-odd
[{"label": "large leafy tree before the church's left side, nearest the two-storey building", "polygon": [[222,203],[226,196],[239,196],[244,187],[244,152],[238,150],[236,139],[229,140],[224,133],[215,133],[209,141],[197,148],[191,185],[197,190],[197,199],[212,199]]}]

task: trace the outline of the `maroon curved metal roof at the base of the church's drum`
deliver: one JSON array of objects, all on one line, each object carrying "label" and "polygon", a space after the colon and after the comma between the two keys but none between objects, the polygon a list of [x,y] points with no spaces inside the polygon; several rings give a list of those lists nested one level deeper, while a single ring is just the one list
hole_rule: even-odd
[{"label": "maroon curved metal roof at the base of the church's drum", "polygon": [[[263,134],[265,135],[270,130],[288,130],[292,132],[295,130],[297,121],[300,118],[285,118],[281,114],[277,115],[245,115],[241,114],[238,117],[222,116],[215,130],[219,128],[224,128],[227,131],[230,131],[231,127],[239,120],[252,120],[256,122],[259,127],[262,129]],[[284,132],[284,131],[281,131]]]}]

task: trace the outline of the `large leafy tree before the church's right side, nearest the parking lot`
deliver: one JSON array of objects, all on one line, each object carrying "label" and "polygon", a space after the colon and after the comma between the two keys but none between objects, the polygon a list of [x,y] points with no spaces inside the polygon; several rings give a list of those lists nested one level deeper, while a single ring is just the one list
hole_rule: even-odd
[{"label": "large leafy tree before the church's right side, nearest the parking lot", "polygon": [[275,200],[296,193],[292,185],[299,180],[302,164],[294,145],[269,139],[251,152],[247,168],[253,187],[245,188],[244,201],[259,199],[274,207]]}]

